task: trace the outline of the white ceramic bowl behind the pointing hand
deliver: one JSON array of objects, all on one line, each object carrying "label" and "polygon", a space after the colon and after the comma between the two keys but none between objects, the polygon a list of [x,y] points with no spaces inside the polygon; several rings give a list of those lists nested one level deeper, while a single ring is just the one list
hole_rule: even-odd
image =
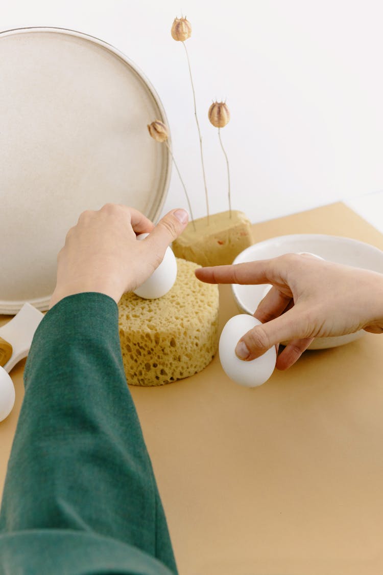
[{"label": "white ceramic bowl behind the pointing hand", "polygon": [[[329,262],[343,263],[347,266],[361,267],[383,274],[383,251],[349,237],[322,234],[272,237],[246,248],[238,254],[233,263],[252,262],[257,259],[276,258],[279,255],[299,252],[311,252]],[[232,289],[239,309],[253,314],[264,297],[265,285],[233,284]],[[309,349],[320,350],[342,346],[360,338],[364,333],[365,331],[361,330],[335,338],[315,338]]]}]

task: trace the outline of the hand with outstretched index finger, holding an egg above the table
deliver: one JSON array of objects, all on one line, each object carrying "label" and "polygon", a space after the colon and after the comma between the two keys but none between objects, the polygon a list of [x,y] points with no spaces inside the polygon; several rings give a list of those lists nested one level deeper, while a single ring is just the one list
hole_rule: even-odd
[{"label": "hand with outstretched index finger, holding an egg above the table", "polygon": [[274,344],[288,342],[277,368],[297,361],[312,340],[366,329],[383,332],[383,275],[326,262],[308,254],[205,267],[196,277],[208,283],[271,283],[254,317],[262,322],[239,340],[235,352],[247,361]]}]

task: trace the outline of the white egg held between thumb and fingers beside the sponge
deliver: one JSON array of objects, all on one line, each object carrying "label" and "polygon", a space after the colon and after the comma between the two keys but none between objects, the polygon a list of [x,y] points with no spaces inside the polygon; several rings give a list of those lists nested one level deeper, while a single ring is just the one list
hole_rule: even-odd
[{"label": "white egg held between thumb and fingers beside the sponge", "polygon": [[255,388],[264,384],[273,373],[277,361],[275,346],[252,361],[243,361],[235,355],[238,340],[249,329],[260,325],[260,323],[255,317],[241,313],[231,317],[223,328],[219,339],[219,359],[223,370],[230,379],[248,388]]}]

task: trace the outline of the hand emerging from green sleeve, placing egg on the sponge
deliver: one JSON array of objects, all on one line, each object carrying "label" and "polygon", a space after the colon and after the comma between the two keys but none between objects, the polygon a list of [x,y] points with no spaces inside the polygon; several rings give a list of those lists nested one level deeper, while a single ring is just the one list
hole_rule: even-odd
[{"label": "hand emerging from green sleeve, placing egg on the sponge", "polygon": [[[57,256],[57,283],[49,308],[81,292],[105,293],[118,302],[123,293],[148,279],[187,221],[185,210],[172,210],[154,227],[136,209],[117,204],[83,212]],[[140,233],[149,236],[137,241]]]}]

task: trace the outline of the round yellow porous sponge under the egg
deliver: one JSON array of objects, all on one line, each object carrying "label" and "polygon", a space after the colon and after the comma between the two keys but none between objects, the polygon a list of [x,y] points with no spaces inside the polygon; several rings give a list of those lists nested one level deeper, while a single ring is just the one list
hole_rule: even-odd
[{"label": "round yellow porous sponge under the egg", "polygon": [[123,294],[118,304],[123,366],[130,385],[164,385],[202,371],[218,349],[218,286],[177,260],[172,289],[157,300]]}]

